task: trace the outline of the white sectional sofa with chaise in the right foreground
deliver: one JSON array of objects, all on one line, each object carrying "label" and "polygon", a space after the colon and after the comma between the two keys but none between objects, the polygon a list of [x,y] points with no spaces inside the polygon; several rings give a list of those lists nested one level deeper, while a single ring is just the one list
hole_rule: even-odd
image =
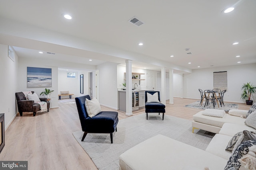
[{"label": "white sectional sofa with chaise in the right foreground", "polygon": [[[241,115],[246,116],[247,112],[231,111],[233,115],[225,114],[223,118],[204,117],[202,112],[199,112],[192,125],[218,133],[214,135],[206,150],[192,147],[163,135],[156,135],[121,154],[119,157],[120,170],[207,170],[207,168],[209,170],[224,170],[232,155],[231,152],[225,150],[230,139],[240,131],[256,131],[256,129],[245,125],[245,119],[240,117]],[[199,120],[201,122],[196,122]],[[248,169],[240,166],[239,170]]]}]

